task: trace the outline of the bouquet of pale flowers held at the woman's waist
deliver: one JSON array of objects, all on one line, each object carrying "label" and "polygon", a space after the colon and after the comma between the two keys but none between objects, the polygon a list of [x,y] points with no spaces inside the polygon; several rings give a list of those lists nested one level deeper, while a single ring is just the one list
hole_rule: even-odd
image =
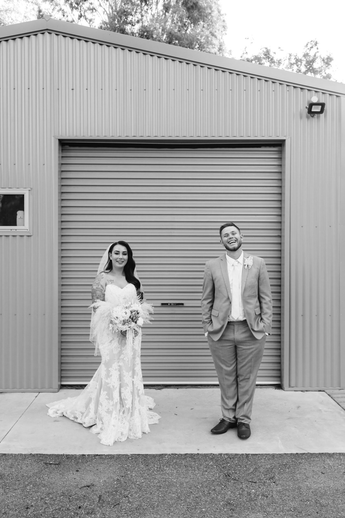
[{"label": "bouquet of pale flowers held at the woman's waist", "polygon": [[109,329],[113,332],[138,331],[143,323],[150,322],[153,307],[147,302],[132,300],[121,306],[114,306],[111,311]]}]

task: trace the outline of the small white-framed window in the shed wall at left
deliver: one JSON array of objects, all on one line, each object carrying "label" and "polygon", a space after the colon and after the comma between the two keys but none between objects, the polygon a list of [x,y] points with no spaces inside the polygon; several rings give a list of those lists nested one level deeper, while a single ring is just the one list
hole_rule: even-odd
[{"label": "small white-framed window in the shed wall at left", "polygon": [[30,189],[0,189],[0,233],[29,231]]}]

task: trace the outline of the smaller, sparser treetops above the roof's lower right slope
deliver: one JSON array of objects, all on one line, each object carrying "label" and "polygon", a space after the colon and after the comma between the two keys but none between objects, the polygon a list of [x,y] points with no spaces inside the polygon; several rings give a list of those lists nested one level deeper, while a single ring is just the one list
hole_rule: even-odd
[{"label": "smaller, sparser treetops above the roof's lower right slope", "polygon": [[[281,50],[281,49],[279,49]],[[258,54],[248,55],[247,49],[243,51],[241,60],[266,65],[274,68],[283,68],[299,74],[306,74],[322,79],[332,79],[330,67],[333,57],[330,54],[322,56],[319,50],[319,42],[312,39],[306,43],[301,55],[289,53],[284,57],[278,58],[277,53],[264,47]]]}]

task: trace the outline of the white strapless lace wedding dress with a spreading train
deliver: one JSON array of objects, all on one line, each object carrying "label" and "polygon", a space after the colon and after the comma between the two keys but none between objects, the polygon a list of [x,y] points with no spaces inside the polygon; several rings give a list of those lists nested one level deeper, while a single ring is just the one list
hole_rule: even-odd
[{"label": "white strapless lace wedding dress with a spreading train", "polygon": [[[107,284],[105,301],[118,306],[136,296],[133,284],[123,289]],[[141,331],[134,340],[126,340],[119,333],[102,329],[99,351],[102,363],[94,377],[79,396],[49,403],[48,415],[67,418],[92,426],[102,444],[139,439],[148,434],[149,424],[158,423],[160,416],[150,412],[155,403],[145,396],[140,364]]]}]

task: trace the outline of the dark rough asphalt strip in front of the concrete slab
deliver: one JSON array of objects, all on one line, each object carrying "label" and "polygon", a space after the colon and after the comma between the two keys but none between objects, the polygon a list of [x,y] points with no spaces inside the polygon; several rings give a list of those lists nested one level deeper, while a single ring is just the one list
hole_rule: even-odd
[{"label": "dark rough asphalt strip in front of the concrete slab", "polygon": [[6,518],[342,518],[345,454],[2,454],[0,502]]}]

